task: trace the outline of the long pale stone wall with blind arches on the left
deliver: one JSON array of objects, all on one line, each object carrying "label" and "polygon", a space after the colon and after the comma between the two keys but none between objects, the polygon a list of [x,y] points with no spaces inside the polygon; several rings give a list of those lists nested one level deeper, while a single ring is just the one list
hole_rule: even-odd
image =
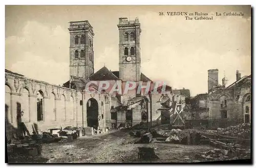
[{"label": "long pale stone wall with blind arches on the left", "polygon": [[[5,74],[7,132],[24,122],[32,133],[32,124],[41,131],[49,128],[78,126],[78,99],[76,90],[63,88],[15,73]],[[42,95],[42,120],[37,121],[37,94]],[[17,118],[20,111],[22,117]]]}]

